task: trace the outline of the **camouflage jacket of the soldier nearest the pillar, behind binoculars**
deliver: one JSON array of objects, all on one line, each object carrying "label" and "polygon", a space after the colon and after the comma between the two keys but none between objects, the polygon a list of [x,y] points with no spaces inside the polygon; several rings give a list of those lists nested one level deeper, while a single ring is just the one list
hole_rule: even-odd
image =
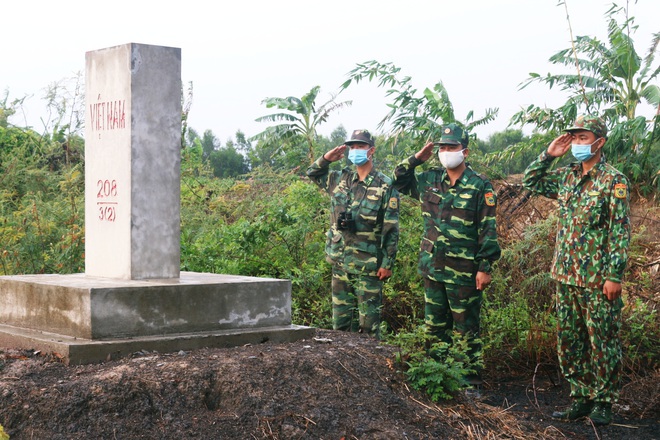
[{"label": "camouflage jacket of the soldier nearest the pillar, behind binoculars", "polygon": [[[375,169],[360,182],[354,169],[330,171],[330,163],[320,157],[307,169],[331,198],[327,260],[348,273],[376,276],[381,267],[391,270],[399,241],[399,192]],[[354,228],[338,227],[343,212],[352,214]]]}]

